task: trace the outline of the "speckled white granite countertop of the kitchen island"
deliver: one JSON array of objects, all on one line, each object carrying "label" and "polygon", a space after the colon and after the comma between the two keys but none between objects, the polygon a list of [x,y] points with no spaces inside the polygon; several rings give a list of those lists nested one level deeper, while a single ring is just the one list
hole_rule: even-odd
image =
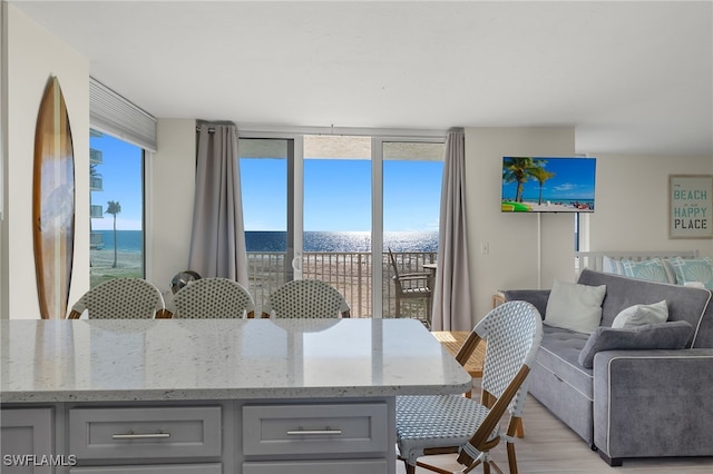
[{"label": "speckled white granite countertop of the kitchen island", "polygon": [[2,403],[462,393],[470,376],[411,319],[1,322]]}]

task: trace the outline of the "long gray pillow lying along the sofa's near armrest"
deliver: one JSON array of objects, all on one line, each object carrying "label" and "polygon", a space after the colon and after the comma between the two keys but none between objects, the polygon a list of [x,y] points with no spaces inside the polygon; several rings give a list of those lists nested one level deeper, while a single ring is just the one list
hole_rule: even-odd
[{"label": "long gray pillow lying along the sofa's near armrest", "polygon": [[686,347],[693,326],[685,320],[645,324],[643,326],[611,328],[598,327],[579,353],[579,364],[594,366],[594,355],[602,350],[617,349],[683,349]]}]

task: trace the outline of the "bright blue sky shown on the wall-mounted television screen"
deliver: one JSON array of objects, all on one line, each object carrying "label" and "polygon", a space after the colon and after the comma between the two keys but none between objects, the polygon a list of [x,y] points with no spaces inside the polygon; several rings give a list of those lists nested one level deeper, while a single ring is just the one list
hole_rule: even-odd
[{"label": "bright blue sky shown on the wall-mounted television screen", "polygon": [[[594,199],[595,158],[543,158],[547,161],[545,169],[554,172],[543,186],[543,199],[570,200]],[[502,185],[502,198],[514,199],[517,184]],[[525,200],[537,200],[539,182],[533,178],[525,182]]]}]

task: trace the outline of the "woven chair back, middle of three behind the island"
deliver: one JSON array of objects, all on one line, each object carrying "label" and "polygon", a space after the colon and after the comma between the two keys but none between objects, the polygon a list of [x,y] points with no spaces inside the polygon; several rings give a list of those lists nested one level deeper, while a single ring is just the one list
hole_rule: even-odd
[{"label": "woven chair back, middle of three behind the island", "polygon": [[253,317],[255,304],[247,289],[229,278],[201,278],[174,296],[174,318]]}]

